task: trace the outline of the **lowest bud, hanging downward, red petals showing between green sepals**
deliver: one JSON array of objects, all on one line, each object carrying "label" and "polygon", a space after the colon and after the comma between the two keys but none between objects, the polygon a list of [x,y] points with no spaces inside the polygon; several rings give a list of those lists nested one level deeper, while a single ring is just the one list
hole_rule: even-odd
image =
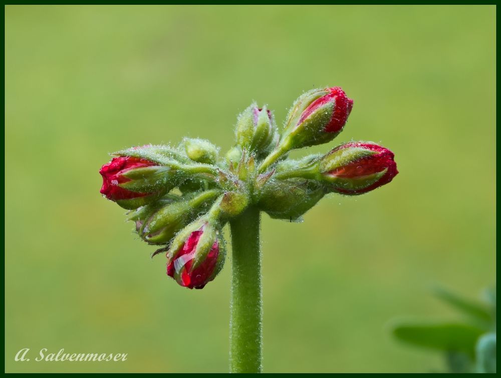
[{"label": "lowest bud, hanging downward, red petals showing between green sepals", "polygon": [[167,252],[167,275],[181,286],[201,289],[224,264],[224,242],[206,221],[196,222],[186,231],[176,236]]}]

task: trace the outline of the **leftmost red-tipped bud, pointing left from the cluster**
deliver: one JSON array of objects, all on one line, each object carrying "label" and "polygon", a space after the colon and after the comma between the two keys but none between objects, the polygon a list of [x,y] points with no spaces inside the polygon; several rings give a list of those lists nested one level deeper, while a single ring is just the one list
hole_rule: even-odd
[{"label": "leftmost red-tipped bud, pointing left from the cluster", "polygon": [[120,156],[103,165],[101,194],[125,209],[137,209],[165,194],[167,181],[175,174],[170,167],[150,160]]}]

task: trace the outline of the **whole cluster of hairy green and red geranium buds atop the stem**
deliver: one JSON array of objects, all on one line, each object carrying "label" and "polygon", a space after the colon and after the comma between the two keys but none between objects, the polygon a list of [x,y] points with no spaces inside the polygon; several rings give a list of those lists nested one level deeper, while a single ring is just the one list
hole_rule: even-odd
[{"label": "whole cluster of hairy green and red geranium buds atop the stem", "polygon": [[118,151],[100,170],[101,193],[130,210],[139,238],[160,246],[153,255],[165,252],[169,277],[200,289],[224,264],[222,228],[247,207],[293,221],[329,193],[359,195],[395,177],[393,153],[371,142],[288,159],[294,149],[332,141],[352,108],[339,87],[312,90],[296,100],[280,132],[272,111],[253,103],[238,116],[235,145],[223,156],[193,138]]}]

